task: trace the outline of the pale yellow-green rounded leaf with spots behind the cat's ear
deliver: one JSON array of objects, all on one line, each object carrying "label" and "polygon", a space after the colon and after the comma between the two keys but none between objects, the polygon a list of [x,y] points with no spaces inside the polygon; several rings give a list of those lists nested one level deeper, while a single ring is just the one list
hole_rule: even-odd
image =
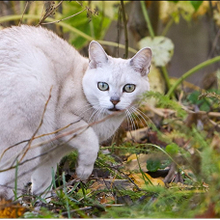
[{"label": "pale yellow-green rounded leaf with spots behind the cat's ear", "polygon": [[150,47],[153,53],[153,62],[155,66],[165,66],[173,55],[174,44],[171,39],[163,36],[142,38],[139,47]]}]

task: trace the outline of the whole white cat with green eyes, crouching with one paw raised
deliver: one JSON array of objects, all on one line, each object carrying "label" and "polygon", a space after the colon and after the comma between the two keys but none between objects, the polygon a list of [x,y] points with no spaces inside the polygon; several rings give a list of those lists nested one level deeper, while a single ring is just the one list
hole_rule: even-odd
[{"label": "whole white cat with green eyes, crouching with one paw raised", "polygon": [[86,180],[99,144],[149,90],[150,48],[125,60],[92,41],[88,52],[89,59],[42,27],[0,31],[1,197],[13,198],[15,178],[18,195],[30,181],[32,193],[43,193],[52,168],[74,149],[77,178]]}]

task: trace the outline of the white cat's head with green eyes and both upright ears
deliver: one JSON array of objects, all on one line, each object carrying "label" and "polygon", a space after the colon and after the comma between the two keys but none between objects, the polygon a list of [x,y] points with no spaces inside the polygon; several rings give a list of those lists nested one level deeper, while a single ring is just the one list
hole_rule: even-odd
[{"label": "white cat's head with green eyes and both upright ears", "polygon": [[152,52],[139,50],[131,59],[113,58],[102,46],[92,41],[89,45],[89,66],[83,77],[87,100],[97,110],[111,114],[125,110],[150,89],[148,73]]}]

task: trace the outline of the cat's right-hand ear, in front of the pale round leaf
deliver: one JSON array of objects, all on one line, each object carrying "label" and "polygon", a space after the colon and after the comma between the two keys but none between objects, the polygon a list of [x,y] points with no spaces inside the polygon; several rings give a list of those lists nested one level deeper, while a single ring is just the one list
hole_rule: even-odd
[{"label": "cat's right-hand ear, in front of the pale round leaf", "polygon": [[130,60],[132,68],[142,76],[150,72],[152,51],[149,47],[139,50]]}]

